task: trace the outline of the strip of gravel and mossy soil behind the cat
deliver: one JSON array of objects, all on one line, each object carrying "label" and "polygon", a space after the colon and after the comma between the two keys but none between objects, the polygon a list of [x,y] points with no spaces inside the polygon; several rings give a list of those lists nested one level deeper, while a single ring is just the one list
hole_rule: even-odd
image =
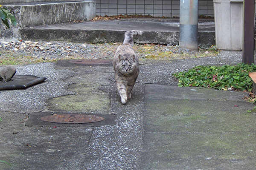
[{"label": "strip of gravel and mossy soil behind the cat", "polygon": [[[1,41],[0,65],[51,62],[60,59],[112,59],[118,43],[74,43],[46,41]],[[214,48],[199,51],[180,50],[177,45],[134,44],[139,59],[184,59],[208,57],[216,54]]]}]

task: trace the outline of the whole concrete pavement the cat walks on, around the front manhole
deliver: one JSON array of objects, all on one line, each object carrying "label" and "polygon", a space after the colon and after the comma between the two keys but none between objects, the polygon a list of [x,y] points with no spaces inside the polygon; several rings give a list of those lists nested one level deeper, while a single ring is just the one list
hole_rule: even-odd
[{"label": "whole concrete pavement the cat walks on, around the front manhole", "polygon": [[[236,54],[236,55],[233,55]],[[241,62],[224,53],[221,64]],[[241,91],[179,88],[172,73],[215,57],[140,61],[132,99],[122,105],[112,66],[15,65],[47,77],[0,91],[0,170],[254,170],[256,113]],[[35,112],[114,114],[115,125],[29,125]],[[40,116],[38,116],[38,119]]]}]

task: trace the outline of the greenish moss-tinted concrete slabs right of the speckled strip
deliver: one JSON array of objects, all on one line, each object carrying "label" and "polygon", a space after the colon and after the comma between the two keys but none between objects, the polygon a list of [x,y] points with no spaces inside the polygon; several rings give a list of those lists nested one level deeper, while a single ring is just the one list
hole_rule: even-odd
[{"label": "greenish moss-tinted concrete slabs right of the speckled strip", "polygon": [[146,85],[140,169],[254,169],[256,114],[243,95]]}]

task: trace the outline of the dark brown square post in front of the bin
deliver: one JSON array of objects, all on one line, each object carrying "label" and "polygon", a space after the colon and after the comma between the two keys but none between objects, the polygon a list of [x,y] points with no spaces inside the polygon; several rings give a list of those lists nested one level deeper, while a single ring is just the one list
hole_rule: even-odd
[{"label": "dark brown square post in front of the bin", "polygon": [[243,62],[253,63],[254,54],[254,0],[244,0]]}]

